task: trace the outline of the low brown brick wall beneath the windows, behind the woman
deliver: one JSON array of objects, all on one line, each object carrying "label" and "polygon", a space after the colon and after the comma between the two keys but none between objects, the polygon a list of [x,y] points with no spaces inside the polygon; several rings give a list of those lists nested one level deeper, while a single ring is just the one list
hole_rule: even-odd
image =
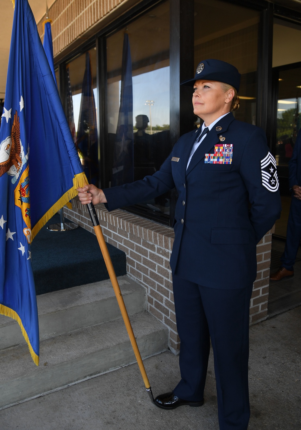
[{"label": "low brown brick wall beneath the windows, behind the woman", "polygon": [[[65,216],[94,232],[86,207],[78,199],[72,205],[72,209],[64,208]],[[169,329],[169,348],[178,353],[180,342],[169,266],[173,229],[119,209],[107,212],[104,205],[96,206],[95,210],[104,239],[126,253],[128,275],[146,289],[147,311]],[[250,324],[267,316],[271,236],[270,231],[257,246],[258,273],[250,304]]]}]

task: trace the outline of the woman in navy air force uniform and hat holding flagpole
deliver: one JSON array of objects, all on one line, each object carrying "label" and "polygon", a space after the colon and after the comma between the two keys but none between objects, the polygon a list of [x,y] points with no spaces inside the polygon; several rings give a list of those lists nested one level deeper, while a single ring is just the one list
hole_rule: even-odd
[{"label": "woman in navy air force uniform and hat holding flagpole", "polygon": [[263,130],[231,113],[239,105],[235,67],[204,60],[182,84],[194,87],[194,114],[203,126],[181,136],[154,175],[104,190],[86,185],[79,197],[111,211],[177,188],[170,265],[181,380],[155,403],[165,409],[203,405],[211,339],[220,429],[246,430],[249,302],[256,244],[281,211],[276,161]]}]

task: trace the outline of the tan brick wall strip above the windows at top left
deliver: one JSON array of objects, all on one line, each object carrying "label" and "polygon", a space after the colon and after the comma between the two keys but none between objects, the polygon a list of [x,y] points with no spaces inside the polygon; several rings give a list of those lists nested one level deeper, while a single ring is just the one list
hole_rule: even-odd
[{"label": "tan brick wall strip above the windows at top left", "polygon": [[[53,56],[57,61],[140,0],[56,0],[49,8]],[[43,41],[46,15],[37,28]],[[61,56],[59,54],[62,54]]]}]

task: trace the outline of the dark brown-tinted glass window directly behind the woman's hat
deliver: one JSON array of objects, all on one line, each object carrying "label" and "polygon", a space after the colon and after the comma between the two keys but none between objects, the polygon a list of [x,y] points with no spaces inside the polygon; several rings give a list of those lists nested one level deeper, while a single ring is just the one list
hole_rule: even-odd
[{"label": "dark brown-tinted glass window directly behind the woman's hat", "polygon": [[[194,64],[216,58],[241,74],[237,120],[255,124],[259,12],[218,0],[194,1]],[[204,19],[206,16],[206,19]]]}]

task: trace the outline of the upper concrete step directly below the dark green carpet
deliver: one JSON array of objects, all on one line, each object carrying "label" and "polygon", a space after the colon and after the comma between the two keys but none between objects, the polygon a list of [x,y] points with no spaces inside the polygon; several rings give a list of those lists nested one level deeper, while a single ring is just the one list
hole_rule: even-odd
[{"label": "upper concrete step directly below the dark green carpet", "polygon": [[[129,315],[146,308],[145,290],[128,276],[118,283]],[[121,318],[110,279],[37,296],[40,341]],[[0,350],[25,344],[18,323],[0,315]]]}]

